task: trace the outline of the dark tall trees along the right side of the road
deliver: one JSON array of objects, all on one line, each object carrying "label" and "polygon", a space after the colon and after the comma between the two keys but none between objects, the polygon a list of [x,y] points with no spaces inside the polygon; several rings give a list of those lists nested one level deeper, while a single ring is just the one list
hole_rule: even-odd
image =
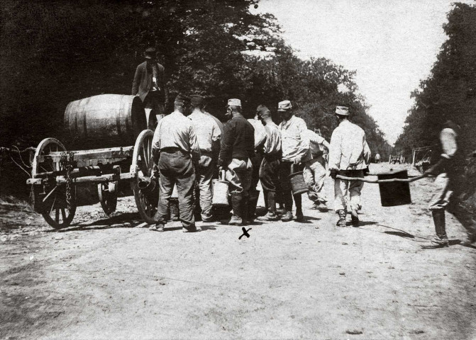
[{"label": "dark tall trees along the right side of the road", "polygon": [[[414,106],[395,147],[410,156],[414,147],[437,146],[446,120],[460,125],[457,196],[466,199],[476,190],[476,161],[472,157],[476,150],[476,5],[455,4],[443,28],[448,40],[441,46],[430,76],[411,94]],[[438,152],[438,147],[433,149]]]}]

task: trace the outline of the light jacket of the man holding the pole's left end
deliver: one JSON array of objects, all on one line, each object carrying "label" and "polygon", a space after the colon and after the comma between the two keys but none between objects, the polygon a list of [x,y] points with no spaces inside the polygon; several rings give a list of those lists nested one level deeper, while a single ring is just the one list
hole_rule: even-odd
[{"label": "light jacket of the man holding the pole's left end", "polygon": [[364,130],[348,120],[343,120],[332,132],[329,170],[365,169],[370,163],[370,156]]}]

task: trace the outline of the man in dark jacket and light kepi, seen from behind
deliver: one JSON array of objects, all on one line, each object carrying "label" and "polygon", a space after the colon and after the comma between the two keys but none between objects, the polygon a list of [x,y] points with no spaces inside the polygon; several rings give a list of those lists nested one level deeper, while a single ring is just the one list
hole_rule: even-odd
[{"label": "man in dark jacket and light kepi, seen from behind", "polygon": [[243,225],[248,215],[248,199],[253,166],[250,158],[255,155],[253,126],[241,114],[241,101],[228,100],[226,122],[218,166],[226,169],[226,181],[231,185],[233,216],[230,225]]}]

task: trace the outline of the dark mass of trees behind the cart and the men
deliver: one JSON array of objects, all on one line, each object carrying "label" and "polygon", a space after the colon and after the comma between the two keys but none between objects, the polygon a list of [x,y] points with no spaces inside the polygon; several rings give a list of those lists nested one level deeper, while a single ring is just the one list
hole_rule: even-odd
[{"label": "dark mass of trees behind the cart and the men", "polygon": [[[148,46],[160,51],[173,94],[209,97],[223,118],[226,99],[245,113],[273,111],[289,99],[309,128],[330,138],[336,105],[367,133],[374,153],[389,145],[367,115],[354,72],[330,60],[300,60],[255,0],[2,1],[0,145],[62,138],[67,103],[102,93],[128,94]],[[348,91],[340,91],[340,86]],[[169,110],[171,108],[168,108]]]}]

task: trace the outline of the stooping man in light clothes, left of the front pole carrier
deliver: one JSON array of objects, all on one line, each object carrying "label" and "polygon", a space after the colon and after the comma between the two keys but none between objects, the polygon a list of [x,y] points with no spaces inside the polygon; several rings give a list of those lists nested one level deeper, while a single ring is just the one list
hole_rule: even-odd
[{"label": "stooping man in light clothes, left of the front pole carrier", "polygon": [[326,163],[329,152],[329,143],[316,132],[307,130],[311,159],[304,164],[304,181],[309,188],[307,195],[314,202],[313,209],[321,212],[327,211],[327,198],[323,193],[324,180],[326,179]]}]

